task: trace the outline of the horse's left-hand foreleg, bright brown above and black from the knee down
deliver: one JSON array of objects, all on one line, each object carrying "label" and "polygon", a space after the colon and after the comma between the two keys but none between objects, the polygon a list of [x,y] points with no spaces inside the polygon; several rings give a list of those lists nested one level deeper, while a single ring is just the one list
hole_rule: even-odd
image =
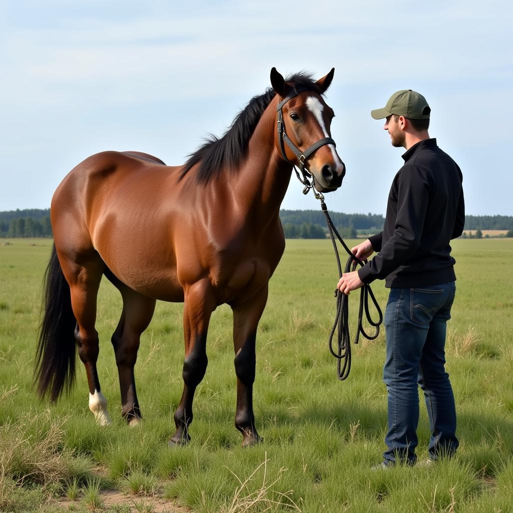
[{"label": "horse's left-hand foreleg, bright brown above and black from the knee down", "polygon": [[184,294],[185,360],[182,371],[184,391],[174,413],[176,432],[169,445],[186,444],[190,440],[189,425],[192,422],[192,401],[196,387],[207,370],[207,331],[215,300],[208,280],[187,287]]}]

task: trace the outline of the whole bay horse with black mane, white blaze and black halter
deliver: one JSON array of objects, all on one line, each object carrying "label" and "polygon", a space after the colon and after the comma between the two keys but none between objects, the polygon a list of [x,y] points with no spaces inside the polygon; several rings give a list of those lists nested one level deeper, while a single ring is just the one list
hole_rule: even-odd
[{"label": "whole bay horse with black mane, white blaze and black halter", "polygon": [[169,443],[190,440],[210,316],[227,303],[233,311],[235,427],[243,446],[260,441],[253,414],[255,341],[268,281],[285,248],[279,211],[292,165],[304,167],[320,192],[340,187],[345,173],[330,135],[334,113],[323,98],[333,73],[316,82],[305,73],[285,80],[272,68],[272,87],[183,166],[141,152],[105,151],[68,173],[50,209],[54,245],[35,368],[41,397],[49,393],[55,401],[69,391],[76,345],[89,408],[98,423],[110,422],[96,370],[96,298],[105,274],[123,298],[112,345],[128,423],[142,418],[134,365],[155,301],[184,302],[184,388]]}]

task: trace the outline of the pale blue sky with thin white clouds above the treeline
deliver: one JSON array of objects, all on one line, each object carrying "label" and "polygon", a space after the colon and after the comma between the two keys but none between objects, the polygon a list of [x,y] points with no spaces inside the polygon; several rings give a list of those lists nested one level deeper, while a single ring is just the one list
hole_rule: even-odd
[{"label": "pale blue sky with thin white clouds above the treeline", "polygon": [[[431,106],[467,214],[513,215],[513,5],[431,2],[0,0],[0,210],[48,208],[104,150],[180,165],[283,75],[332,67],[326,101],[346,164],[328,208],[384,214],[403,149],[370,110],[400,89]],[[317,209],[291,179],[286,209]]]}]

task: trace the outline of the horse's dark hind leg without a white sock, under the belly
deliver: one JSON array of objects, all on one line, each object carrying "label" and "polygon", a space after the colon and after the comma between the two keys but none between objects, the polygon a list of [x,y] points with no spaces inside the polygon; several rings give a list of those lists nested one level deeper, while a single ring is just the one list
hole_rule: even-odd
[{"label": "horse's dark hind leg without a white sock, under the belly", "polygon": [[121,319],[112,335],[120,376],[122,415],[130,425],[142,419],[135,391],[134,366],[141,333],[148,327],[155,310],[155,300],[145,297],[122,284],[115,284],[123,297]]}]

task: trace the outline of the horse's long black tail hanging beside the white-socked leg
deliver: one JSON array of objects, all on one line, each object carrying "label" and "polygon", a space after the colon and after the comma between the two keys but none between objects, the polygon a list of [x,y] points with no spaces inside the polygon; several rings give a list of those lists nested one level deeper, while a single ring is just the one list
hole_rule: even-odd
[{"label": "horse's long black tail hanging beside the white-socked leg", "polygon": [[57,258],[55,244],[44,281],[44,317],[37,342],[34,382],[37,392],[57,400],[69,392],[75,377],[76,320],[71,309],[69,285]]}]

